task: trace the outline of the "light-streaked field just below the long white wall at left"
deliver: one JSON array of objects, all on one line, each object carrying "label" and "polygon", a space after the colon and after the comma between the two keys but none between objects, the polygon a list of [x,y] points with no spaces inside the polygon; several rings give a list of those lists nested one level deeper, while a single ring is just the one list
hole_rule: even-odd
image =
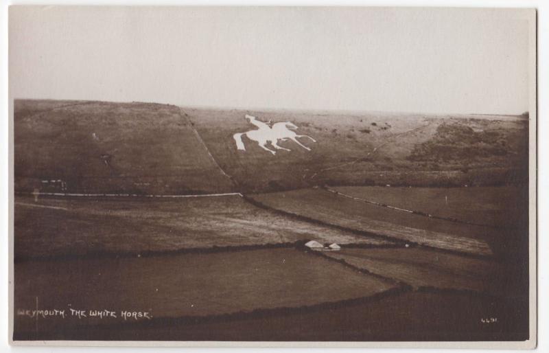
[{"label": "light-streaked field just below the long white wall at left", "polygon": [[16,197],[15,258],[133,255],[299,240],[387,244],[246,203],[240,196],[150,199]]}]

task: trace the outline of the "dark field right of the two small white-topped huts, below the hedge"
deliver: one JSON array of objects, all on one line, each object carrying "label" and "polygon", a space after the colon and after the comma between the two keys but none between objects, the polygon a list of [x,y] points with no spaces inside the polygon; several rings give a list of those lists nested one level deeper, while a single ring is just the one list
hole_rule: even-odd
[{"label": "dark field right of the two small white-topped huts, below the hedge", "polygon": [[353,249],[326,251],[323,255],[352,266],[399,280],[414,288],[423,286],[476,291],[516,298],[524,293],[526,263],[502,264],[420,248]]}]

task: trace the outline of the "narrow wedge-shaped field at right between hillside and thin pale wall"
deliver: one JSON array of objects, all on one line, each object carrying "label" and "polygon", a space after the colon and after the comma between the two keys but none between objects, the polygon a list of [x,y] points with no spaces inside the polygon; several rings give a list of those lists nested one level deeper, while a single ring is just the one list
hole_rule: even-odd
[{"label": "narrow wedge-shaped field at right between hillside and thin pale wall", "polygon": [[367,201],[495,227],[525,227],[527,187],[331,187]]}]

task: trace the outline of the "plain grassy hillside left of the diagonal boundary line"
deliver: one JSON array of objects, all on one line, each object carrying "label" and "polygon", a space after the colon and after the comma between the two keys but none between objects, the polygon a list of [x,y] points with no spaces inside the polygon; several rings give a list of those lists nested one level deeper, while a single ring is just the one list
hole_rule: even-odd
[{"label": "plain grassy hillside left of the diagonal boundary line", "polygon": [[17,191],[180,194],[232,185],[176,106],[16,100],[14,145]]}]

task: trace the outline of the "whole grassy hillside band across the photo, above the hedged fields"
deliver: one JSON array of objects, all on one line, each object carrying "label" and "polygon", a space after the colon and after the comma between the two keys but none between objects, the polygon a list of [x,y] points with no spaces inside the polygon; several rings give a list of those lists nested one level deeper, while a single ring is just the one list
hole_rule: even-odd
[{"label": "whole grassy hillside band across the photo, above the hedged fields", "polygon": [[[271,155],[234,133],[290,121],[301,143]],[[527,179],[528,120],[506,116],[180,109],[16,100],[18,191],[189,194],[311,185],[502,185]],[[207,150],[208,148],[208,150]],[[213,158],[209,155],[211,152]],[[222,174],[222,170],[233,177]]]}]

